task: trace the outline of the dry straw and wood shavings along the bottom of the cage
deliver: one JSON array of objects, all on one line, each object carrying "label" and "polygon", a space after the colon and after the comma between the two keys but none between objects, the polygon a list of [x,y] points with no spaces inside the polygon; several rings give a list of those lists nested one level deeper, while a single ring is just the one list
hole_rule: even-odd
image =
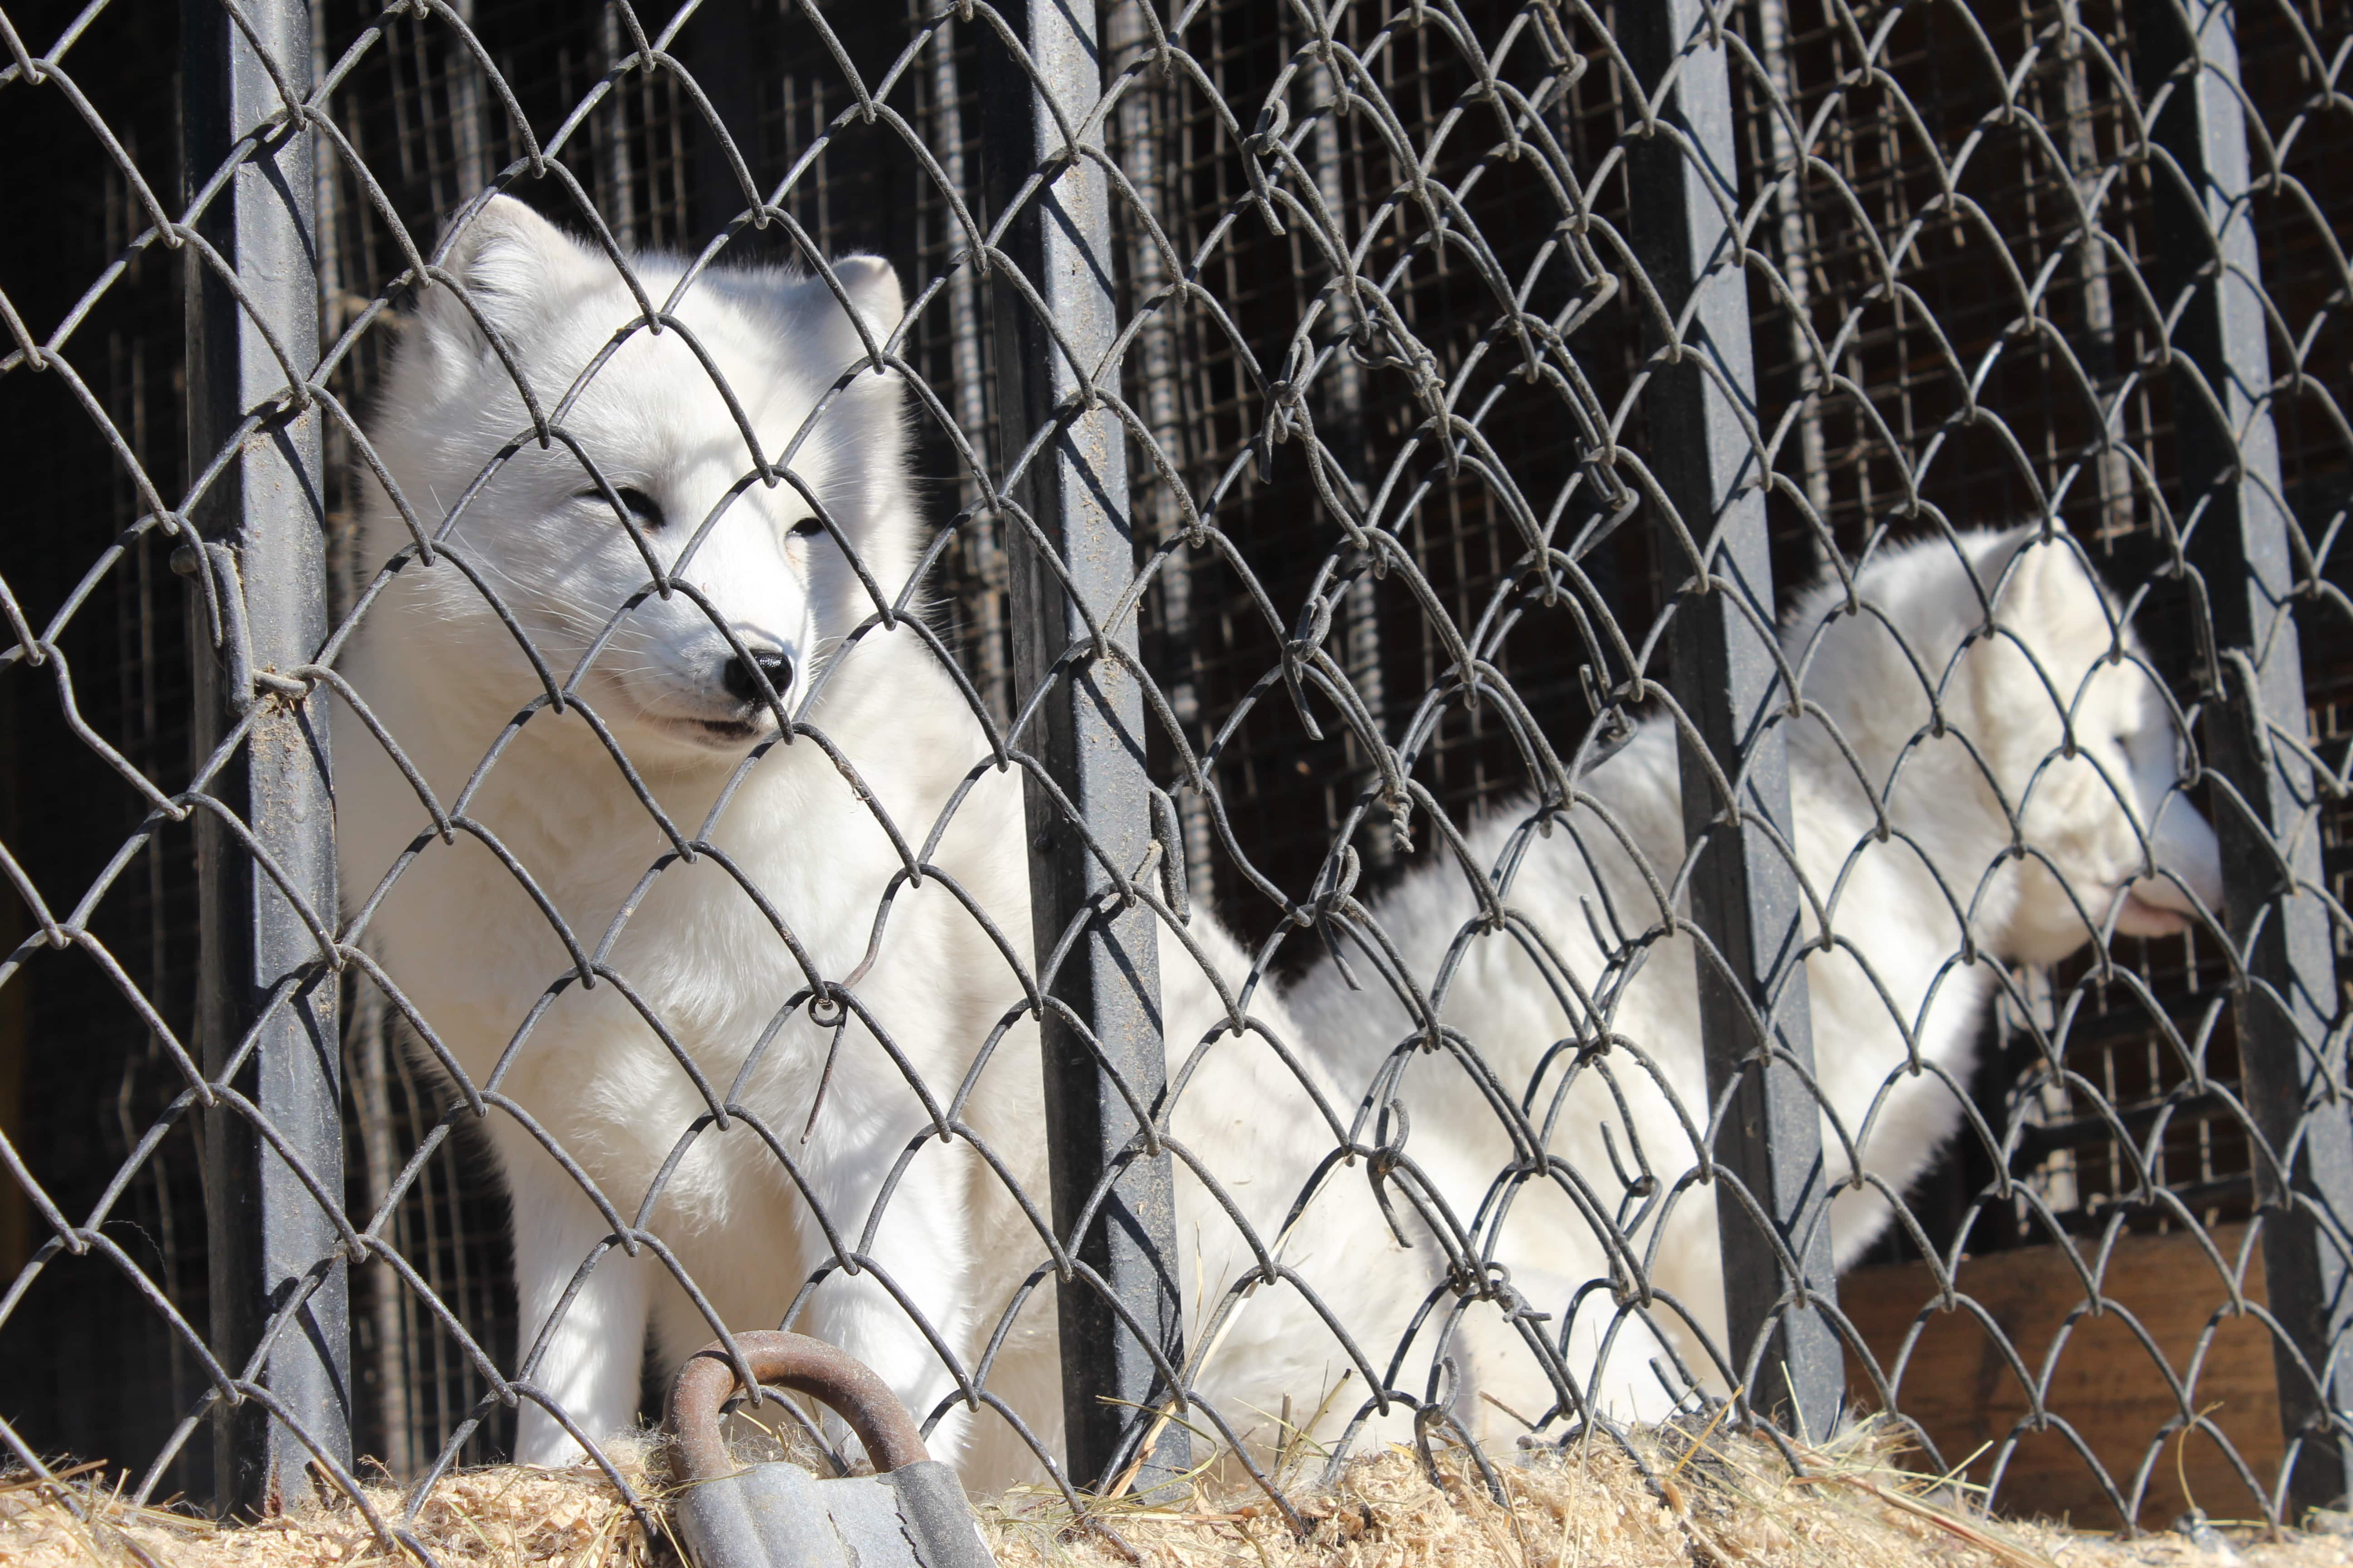
[{"label": "dry straw and wood shavings along the bottom of the cage", "polygon": [[[1292,1481],[1306,1535],[1261,1495],[1184,1505],[1094,1505],[1078,1519],[1056,1493],[981,1507],[1002,1568],[2353,1568],[2353,1537],[2259,1530],[2113,1535],[1984,1516],[1958,1488],[1908,1474],[1866,1425],[1805,1455],[1793,1476],[1777,1450],[1720,1432],[1661,1429],[1638,1441],[1652,1488],[1607,1439],[1497,1465],[1497,1502],[1475,1462],[1442,1453],[1438,1481],[1405,1448],[1360,1458],[1329,1488]],[[614,1455],[661,1512],[659,1453]],[[92,1467],[59,1488],[0,1476],[7,1568],[355,1568],[409,1561],[386,1552],[348,1500],[256,1526],[216,1526],[134,1507]],[[1661,1495],[1666,1500],[1661,1502]],[[398,1488],[367,1490],[400,1521]],[[659,1523],[659,1521],[656,1521]],[[2344,1521],[2353,1523],[2353,1521]],[[673,1542],[647,1540],[595,1469],[496,1467],[445,1479],[414,1521],[447,1568],[654,1568]],[[666,1530],[664,1530],[666,1535]]]}]

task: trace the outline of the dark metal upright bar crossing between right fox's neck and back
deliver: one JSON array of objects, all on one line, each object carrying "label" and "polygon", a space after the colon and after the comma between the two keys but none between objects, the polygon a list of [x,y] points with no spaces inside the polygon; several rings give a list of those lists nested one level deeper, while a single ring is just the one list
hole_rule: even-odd
[{"label": "dark metal upright bar crossing between right fox's neck and back", "polygon": [[[1744,418],[1755,421],[1755,364],[1748,284],[1729,226],[1739,193],[1732,82],[1706,0],[1642,0],[1628,7],[1628,56],[1649,92],[1675,71],[1659,132],[1628,148],[1638,259],[1666,310],[1687,317],[1682,355],[1654,367],[1647,390],[1649,463],[1675,512],[1659,520],[1659,550],[1673,581],[1687,559],[1680,517],[1706,562],[1706,576],[1687,581],[1671,607],[1668,684],[1737,788],[1737,799],[1720,799],[1706,759],[1685,748],[1692,919],[1732,971],[1727,980],[1706,959],[1699,964],[1708,1093],[1725,1107],[1715,1128],[1715,1222],[1729,1352],[1758,1410],[1826,1434],[1845,1392],[1845,1361],[1819,1309],[1835,1300],[1835,1284],[1821,1105],[1807,1086],[1814,1044],[1802,903],[1798,872],[1774,844],[1795,844],[1777,726],[1791,693],[1767,642],[1774,588],[1765,458],[1744,430]],[[1767,1020],[1765,1039],[1751,1016]],[[1746,1187],[1769,1229],[1722,1178]],[[1800,1279],[1786,1276],[1784,1253]]]}]

